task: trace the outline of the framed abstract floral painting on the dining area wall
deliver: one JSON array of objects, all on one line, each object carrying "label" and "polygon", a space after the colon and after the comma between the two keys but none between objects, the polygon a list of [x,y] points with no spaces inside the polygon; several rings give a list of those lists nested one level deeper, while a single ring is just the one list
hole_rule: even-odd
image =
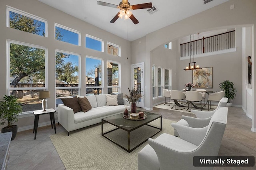
[{"label": "framed abstract floral painting on the dining area wall", "polygon": [[193,88],[212,88],[212,67],[193,70]]}]

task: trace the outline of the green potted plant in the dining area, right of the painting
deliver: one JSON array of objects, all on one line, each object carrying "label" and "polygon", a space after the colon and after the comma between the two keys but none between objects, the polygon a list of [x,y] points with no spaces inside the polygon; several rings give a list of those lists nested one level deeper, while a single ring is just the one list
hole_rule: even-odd
[{"label": "green potted plant in the dining area, right of the painting", "polygon": [[[233,100],[236,96],[236,88],[234,88],[234,83],[228,80],[223,81],[219,84],[219,87],[221,90],[225,91],[225,96],[228,98],[228,103],[230,103],[230,100]],[[232,105],[232,104],[231,104]]]}]

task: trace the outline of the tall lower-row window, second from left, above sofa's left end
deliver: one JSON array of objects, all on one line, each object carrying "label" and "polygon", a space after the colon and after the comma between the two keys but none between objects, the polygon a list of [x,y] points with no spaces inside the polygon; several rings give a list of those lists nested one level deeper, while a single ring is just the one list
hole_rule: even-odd
[{"label": "tall lower-row window, second from left, above sofa's left end", "polygon": [[79,95],[79,55],[55,51],[56,107],[62,104],[62,97]]}]

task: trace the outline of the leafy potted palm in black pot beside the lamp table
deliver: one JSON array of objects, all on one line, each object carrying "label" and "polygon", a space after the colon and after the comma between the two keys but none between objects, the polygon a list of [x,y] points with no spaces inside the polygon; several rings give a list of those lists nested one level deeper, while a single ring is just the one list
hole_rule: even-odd
[{"label": "leafy potted palm in black pot beside the lamp table", "polygon": [[2,128],[2,133],[12,132],[11,140],[14,140],[18,130],[17,125],[12,125],[12,123],[17,122],[19,113],[22,113],[22,107],[17,100],[12,95],[4,95],[0,101],[0,125],[7,125],[7,127]]}]

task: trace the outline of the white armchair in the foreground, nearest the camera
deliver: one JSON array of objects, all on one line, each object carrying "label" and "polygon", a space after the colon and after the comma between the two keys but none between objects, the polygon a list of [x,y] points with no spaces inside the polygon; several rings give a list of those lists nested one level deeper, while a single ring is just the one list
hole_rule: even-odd
[{"label": "white armchair in the foreground, nearest the camera", "polygon": [[227,115],[227,107],[218,109],[203,128],[172,123],[180,138],[170,134],[149,138],[148,145],[138,153],[138,170],[212,170],[213,167],[193,166],[193,157],[218,156]]}]

